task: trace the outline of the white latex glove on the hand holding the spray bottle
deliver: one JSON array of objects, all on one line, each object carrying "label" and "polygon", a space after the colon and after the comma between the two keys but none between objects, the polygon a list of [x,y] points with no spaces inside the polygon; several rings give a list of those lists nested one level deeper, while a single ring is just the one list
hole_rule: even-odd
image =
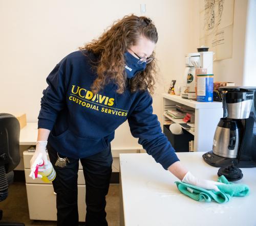
[{"label": "white latex glove on the hand holding the spray bottle", "polygon": [[[46,145],[47,145],[47,140],[36,142],[35,153],[30,160],[31,172],[29,174],[29,177],[31,177],[33,180],[35,179],[36,165],[39,165],[42,162],[42,160],[44,160],[44,165],[48,164],[47,155],[46,155]],[[42,171],[42,170],[38,169],[38,171]],[[42,178],[42,175],[37,174],[37,178]]]}]

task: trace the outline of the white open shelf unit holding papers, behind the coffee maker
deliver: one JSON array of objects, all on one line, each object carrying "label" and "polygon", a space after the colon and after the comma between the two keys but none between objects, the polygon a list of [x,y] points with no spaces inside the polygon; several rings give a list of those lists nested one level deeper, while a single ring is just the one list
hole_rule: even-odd
[{"label": "white open shelf unit holding papers, behind the coffee maker", "polygon": [[163,97],[163,124],[166,120],[175,123],[184,123],[182,119],[174,119],[165,112],[174,108],[176,104],[183,104],[195,109],[195,132],[188,131],[194,135],[194,151],[209,152],[212,149],[212,141],[217,124],[223,117],[221,102],[197,102],[190,99],[181,98],[178,95],[162,93]]}]

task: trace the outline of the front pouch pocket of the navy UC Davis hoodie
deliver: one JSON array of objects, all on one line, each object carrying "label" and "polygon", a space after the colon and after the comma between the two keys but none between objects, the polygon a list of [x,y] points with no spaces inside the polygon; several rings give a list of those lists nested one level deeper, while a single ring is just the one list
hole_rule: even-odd
[{"label": "front pouch pocket of the navy UC Davis hoodie", "polygon": [[51,134],[50,140],[52,146],[61,150],[61,154],[74,158],[89,156],[108,147],[104,138],[80,137],[69,129],[58,136]]}]

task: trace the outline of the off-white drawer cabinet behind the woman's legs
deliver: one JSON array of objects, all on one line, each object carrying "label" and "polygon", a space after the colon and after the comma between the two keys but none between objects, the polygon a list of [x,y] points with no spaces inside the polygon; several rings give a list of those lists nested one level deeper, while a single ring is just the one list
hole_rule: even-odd
[{"label": "off-white drawer cabinet behind the woman's legs", "polygon": [[[27,150],[23,152],[29,218],[33,220],[57,220],[56,195],[52,183],[45,183],[40,179],[33,180],[29,177],[29,161],[33,154]],[[84,221],[86,219],[86,185],[80,161],[77,183],[79,221]]]}]

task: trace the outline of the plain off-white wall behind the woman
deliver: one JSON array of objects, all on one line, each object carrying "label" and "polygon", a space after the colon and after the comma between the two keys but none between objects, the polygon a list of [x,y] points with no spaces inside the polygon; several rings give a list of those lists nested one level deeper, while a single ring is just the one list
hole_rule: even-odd
[{"label": "plain off-white wall behind the woman", "polygon": [[[130,13],[141,15],[141,3],[159,33],[156,51],[161,71],[153,108],[162,120],[160,93],[167,91],[170,80],[183,76],[184,55],[197,47],[196,36],[188,35],[194,32],[193,0],[0,0],[0,112],[25,112],[28,122],[37,122],[46,77],[56,63],[97,38],[114,20]],[[126,123],[116,131],[113,144],[138,146]]]}]

